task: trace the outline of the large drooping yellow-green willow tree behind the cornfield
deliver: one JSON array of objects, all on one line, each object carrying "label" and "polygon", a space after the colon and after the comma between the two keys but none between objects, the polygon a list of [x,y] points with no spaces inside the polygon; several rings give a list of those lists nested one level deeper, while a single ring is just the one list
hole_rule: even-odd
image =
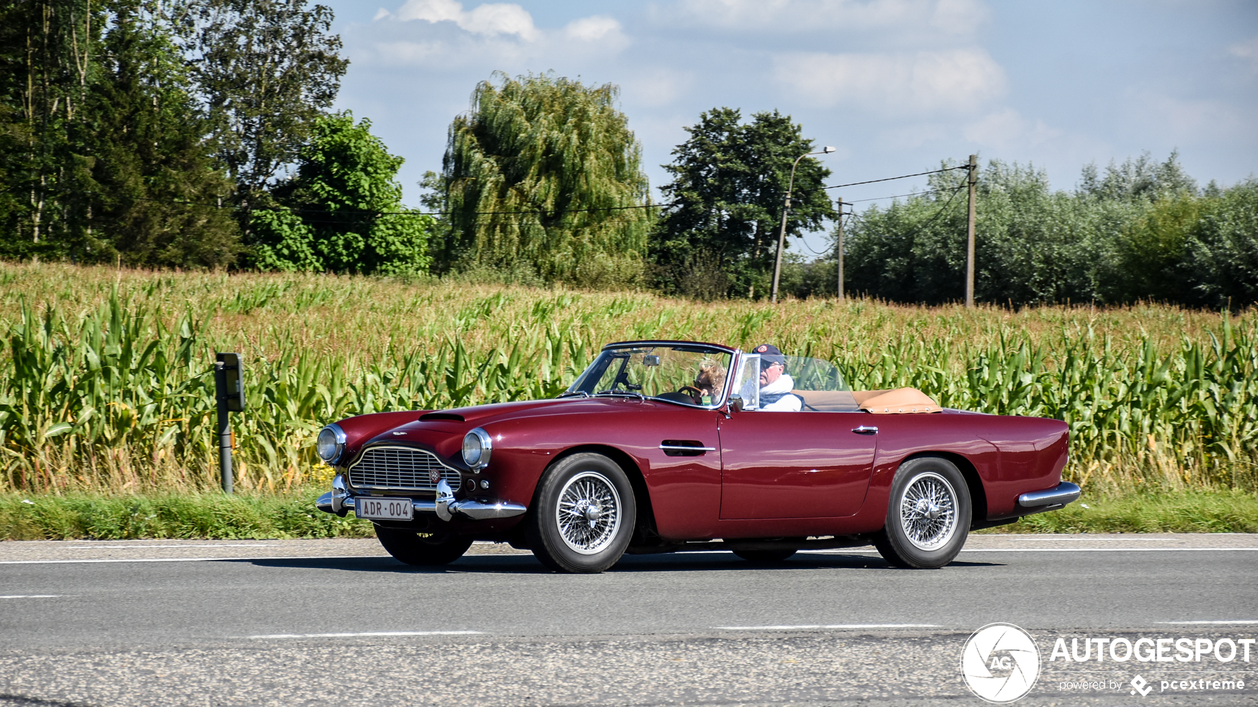
[{"label": "large drooping yellow-green willow tree behind the cornfield", "polygon": [[613,84],[496,73],[449,128],[439,262],[546,283],[638,280],[650,227],[642,147]]}]

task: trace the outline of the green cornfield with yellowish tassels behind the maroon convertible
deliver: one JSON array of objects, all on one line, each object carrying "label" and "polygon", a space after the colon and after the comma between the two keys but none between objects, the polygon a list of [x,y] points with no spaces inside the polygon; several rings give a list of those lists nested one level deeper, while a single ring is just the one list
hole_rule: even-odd
[{"label": "green cornfield with yellowish tassels behind the maroon convertible", "polygon": [[1066,419],[1093,492],[1258,487],[1254,311],[699,304],[330,275],[0,265],[0,492],[209,490],[215,350],[245,358],[237,485],[325,483],[314,434],[386,409],[551,397],[606,342],[834,362],[853,388]]}]

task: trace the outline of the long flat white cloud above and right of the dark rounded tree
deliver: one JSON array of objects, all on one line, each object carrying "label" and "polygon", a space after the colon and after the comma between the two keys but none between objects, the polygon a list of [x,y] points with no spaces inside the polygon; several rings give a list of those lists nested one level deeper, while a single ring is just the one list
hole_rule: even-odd
[{"label": "long flat white cloud above and right of the dark rounded tree", "polygon": [[777,80],[800,100],[874,111],[970,112],[1005,90],[1005,73],[981,49],[902,54],[789,54]]}]

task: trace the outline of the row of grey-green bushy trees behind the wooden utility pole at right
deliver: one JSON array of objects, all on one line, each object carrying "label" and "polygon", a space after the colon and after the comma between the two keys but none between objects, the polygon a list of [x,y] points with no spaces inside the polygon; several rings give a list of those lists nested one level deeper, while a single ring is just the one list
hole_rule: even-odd
[{"label": "row of grey-green bushy trees behind the wooden utility pole at right", "polygon": [[[848,226],[850,291],[928,304],[964,296],[957,175],[935,175],[936,193],[872,207]],[[1258,301],[1258,182],[1199,191],[1171,154],[1111,165],[1105,178],[1084,170],[1076,190],[1054,192],[1043,171],[991,161],[979,180],[975,261],[981,301],[1243,306]],[[808,291],[833,293],[825,284]]]}]

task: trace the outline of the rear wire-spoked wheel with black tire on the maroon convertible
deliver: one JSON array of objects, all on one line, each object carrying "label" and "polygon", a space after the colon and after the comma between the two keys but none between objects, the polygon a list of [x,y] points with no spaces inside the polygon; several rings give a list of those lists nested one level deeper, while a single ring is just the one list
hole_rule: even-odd
[{"label": "rear wire-spoked wheel with black tire on the maroon convertible", "polygon": [[956,465],[940,457],[908,460],[891,482],[887,524],[873,546],[897,568],[941,568],[965,545],[972,507]]}]

